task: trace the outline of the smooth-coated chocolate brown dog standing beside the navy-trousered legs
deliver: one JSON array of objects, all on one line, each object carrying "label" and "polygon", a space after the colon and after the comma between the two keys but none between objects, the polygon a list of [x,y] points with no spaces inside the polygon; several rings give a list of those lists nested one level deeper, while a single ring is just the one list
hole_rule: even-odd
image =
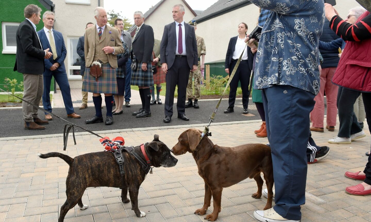
[{"label": "smooth-coated chocolate brown dog standing beside the navy-trousered legs", "polygon": [[210,206],[211,195],[214,199],[214,211],[204,219],[215,221],[221,210],[221,192],[246,178],[254,178],[257,192],[252,195],[259,199],[262,196],[263,172],[268,188],[268,200],[265,210],[272,207],[273,167],[270,147],[264,144],[245,144],[237,147],[219,147],[207,136],[200,141],[201,131],[187,129],[178,138],[178,143],[171,149],[174,155],[190,152],[196,161],[198,174],[205,181],[205,199],[201,209],[194,213],[204,215]]}]

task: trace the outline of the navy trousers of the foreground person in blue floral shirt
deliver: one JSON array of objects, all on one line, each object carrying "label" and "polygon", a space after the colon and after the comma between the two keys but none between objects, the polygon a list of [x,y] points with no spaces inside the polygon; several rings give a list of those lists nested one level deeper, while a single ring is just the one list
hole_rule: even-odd
[{"label": "navy trousers of the foreground person in blue floral shirt", "polygon": [[300,205],[305,204],[309,113],[314,97],[289,85],[273,85],[262,92],[275,179],[274,209],[290,220],[301,220]]}]

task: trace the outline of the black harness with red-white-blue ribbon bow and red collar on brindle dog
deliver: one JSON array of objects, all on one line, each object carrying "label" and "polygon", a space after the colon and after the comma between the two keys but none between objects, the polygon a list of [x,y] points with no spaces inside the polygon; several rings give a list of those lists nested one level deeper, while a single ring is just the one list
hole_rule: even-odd
[{"label": "black harness with red-white-blue ribbon bow and red collar on brindle dog", "polygon": [[[148,144],[148,142],[145,143],[145,144],[140,145],[142,154],[144,155],[144,158],[146,160],[146,161],[144,161],[134,151],[134,147],[132,147],[132,146],[131,147],[125,147],[124,146],[125,141],[124,141],[124,138],[122,138],[122,137],[113,138],[112,143],[109,142],[110,139],[108,137],[104,137],[102,139],[99,139],[99,141],[101,142],[102,145],[105,146],[104,151],[112,152],[114,154],[116,163],[118,164],[120,176],[121,176],[121,186],[122,186],[121,189],[123,187],[125,187],[124,186],[124,175],[125,175],[124,157],[122,156],[123,151],[126,151],[129,154],[133,155],[139,161],[139,163],[142,165],[142,169],[144,170],[145,174],[148,174],[148,172],[150,172],[150,174],[152,174],[153,165],[151,164],[151,161],[148,158],[147,152],[145,152],[145,149],[144,149],[144,145]],[[152,165],[152,167],[151,167],[151,165]]]}]

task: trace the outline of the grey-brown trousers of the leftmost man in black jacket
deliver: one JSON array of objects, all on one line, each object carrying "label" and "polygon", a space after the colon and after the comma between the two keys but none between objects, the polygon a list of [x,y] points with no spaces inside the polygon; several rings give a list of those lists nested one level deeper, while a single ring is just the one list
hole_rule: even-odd
[{"label": "grey-brown trousers of the leftmost man in black jacket", "polygon": [[[43,95],[43,75],[23,74],[23,99],[37,106],[40,105],[40,100]],[[26,122],[33,122],[37,117],[37,108],[22,102],[23,119]]]}]

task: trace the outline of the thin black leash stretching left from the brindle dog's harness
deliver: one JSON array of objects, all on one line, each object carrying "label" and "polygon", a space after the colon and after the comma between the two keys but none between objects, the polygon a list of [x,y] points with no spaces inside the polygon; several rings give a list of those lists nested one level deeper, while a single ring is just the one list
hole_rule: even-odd
[{"label": "thin black leash stretching left from the brindle dog's harness", "polygon": [[[6,92],[9,95],[12,95],[9,92],[7,92],[7,91],[5,91],[5,90],[3,90],[1,88],[0,88],[0,90],[3,91],[3,92]],[[43,108],[40,108],[38,105],[35,105],[35,104],[33,104],[33,103],[29,102],[29,101],[24,100],[23,98],[17,97],[16,95],[12,95],[12,96],[14,96],[14,97],[16,97],[16,98],[18,98],[18,99],[20,99],[20,100],[22,100],[22,101],[24,101],[24,102],[32,105],[33,107],[36,107],[37,109],[42,110],[42,111],[44,111],[44,112],[46,112],[46,113],[48,113],[48,114],[50,114],[50,115],[52,115],[54,117],[60,118],[61,120],[68,122],[68,124],[65,125],[65,128],[63,130],[63,150],[66,150],[66,148],[67,148],[68,134],[69,134],[69,132],[70,132],[71,129],[72,129],[73,142],[75,142],[75,145],[76,145],[75,128],[74,127],[81,128],[81,129],[85,130],[86,132],[89,132],[89,133],[91,133],[91,134],[93,134],[93,135],[95,135],[97,137],[100,137],[100,138],[105,139],[104,137],[101,137],[100,135],[96,134],[95,132],[92,132],[89,129],[86,129],[84,127],[80,127],[79,125],[76,125],[76,124],[74,124],[74,123],[72,123],[72,122],[70,122],[68,120],[65,120],[62,117],[53,114],[52,112],[49,112],[49,111],[47,111],[47,110],[45,110]],[[107,141],[109,141],[111,143],[114,143],[114,142],[112,142],[109,139],[107,139]]]}]

